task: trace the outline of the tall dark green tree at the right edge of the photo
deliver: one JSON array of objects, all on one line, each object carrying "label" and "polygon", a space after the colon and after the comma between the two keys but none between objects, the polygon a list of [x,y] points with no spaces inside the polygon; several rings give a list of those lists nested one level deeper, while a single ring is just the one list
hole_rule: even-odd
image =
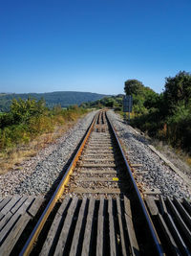
[{"label": "tall dark green tree at the right edge of the photo", "polygon": [[191,153],[191,74],[180,71],[174,78],[167,78],[163,98],[166,139]]}]

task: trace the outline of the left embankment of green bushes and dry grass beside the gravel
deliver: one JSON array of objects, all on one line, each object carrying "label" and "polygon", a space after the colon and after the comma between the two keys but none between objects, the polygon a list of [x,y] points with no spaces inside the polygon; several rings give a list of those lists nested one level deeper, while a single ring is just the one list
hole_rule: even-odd
[{"label": "left embankment of green bushes and dry grass beside the gravel", "polygon": [[53,142],[88,110],[77,105],[46,107],[44,100],[12,100],[0,115],[0,174]]}]

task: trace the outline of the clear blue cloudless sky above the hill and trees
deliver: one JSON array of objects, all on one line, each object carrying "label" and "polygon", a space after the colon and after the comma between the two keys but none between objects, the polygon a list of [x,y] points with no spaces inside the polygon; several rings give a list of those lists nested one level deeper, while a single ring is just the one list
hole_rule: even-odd
[{"label": "clear blue cloudless sky above the hill and trees", "polygon": [[0,0],[0,92],[161,92],[191,71],[191,0]]}]

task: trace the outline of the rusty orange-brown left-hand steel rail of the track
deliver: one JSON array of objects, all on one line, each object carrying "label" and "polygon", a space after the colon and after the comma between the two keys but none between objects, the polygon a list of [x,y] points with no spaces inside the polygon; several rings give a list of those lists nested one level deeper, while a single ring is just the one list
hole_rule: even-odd
[{"label": "rusty orange-brown left-hand steel rail of the track", "polygon": [[95,125],[95,122],[96,122],[96,116],[98,115],[98,113],[96,113],[90,127],[88,128],[88,130],[86,131],[86,135],[78,149],[78,151],[75,153],[74,155],[74,159],[72,161],[72,163],[70,164],[69,168],[67,169],[66,171],[66,174],[62,177],[60,183],[58,184],[55,192],[53,193],[53,197],[50,199],[49,203],[47,204],[45,210],[43,211],[40,219],[37,221],[36,225],[34,226],[33,230],[32,230],[32,234],[30,235],[28,241],[26,242],[26,244],[24,245],[24,247],[22,248],[21,252],[19,253],[19,256],[21,255],[29,255],[32,251],[32,246],[34,244],[34,242],[37,240],[38,238],[38,235],[40,234],[40,231],[42,230],[45,222],[47,221],[50,213],[52,212],[53,210],[53,207],[56,203],[56,201],[61,198],[63,192],[64,192],[64,189],[65,189],[65,186],[66,184],[68,183],[69,181],[69,178],[70,178],[70,175],[72,174],[73,170],[74,170],[74,167],[76,165],[76,162],[81,154],[81,152],[83,151],[84,149],[84,146],[86,144],[86,141],[87,139],[89,138],[93,128],[94,128],[94,125]]}]

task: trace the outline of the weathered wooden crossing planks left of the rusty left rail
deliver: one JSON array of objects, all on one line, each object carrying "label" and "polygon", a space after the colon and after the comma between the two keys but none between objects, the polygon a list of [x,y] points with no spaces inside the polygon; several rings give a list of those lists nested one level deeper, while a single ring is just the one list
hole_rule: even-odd
[{"label": "weathered wooden crossing planks left of the rusty left rail", "polygon": [[13,197],[0,202],[0,254],[10,255],[25,227],[36,215],[43,198]]}]

